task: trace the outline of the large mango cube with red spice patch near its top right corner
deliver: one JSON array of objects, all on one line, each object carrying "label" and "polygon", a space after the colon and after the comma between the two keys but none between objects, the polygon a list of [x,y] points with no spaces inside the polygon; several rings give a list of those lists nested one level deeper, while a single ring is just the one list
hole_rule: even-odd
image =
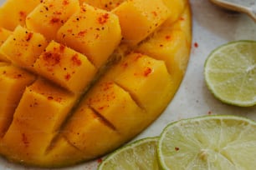
[{"label": "large mango cube with red spice patch near its top right corner", "polygon": [[95,67],[101,67],[121,39],[117,16],[83,4],[59,29],[58,41],[87,56]]}]

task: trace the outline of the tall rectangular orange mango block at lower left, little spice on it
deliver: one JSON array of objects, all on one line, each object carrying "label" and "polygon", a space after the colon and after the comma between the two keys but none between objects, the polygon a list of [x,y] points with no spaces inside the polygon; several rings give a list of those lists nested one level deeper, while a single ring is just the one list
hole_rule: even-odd
[{"label": "tall rectangular orange mango block at lower left, little spice on it", "polygon": [[69,92],[38,79],[23,92],[13,122],[3,137],[1,144],[6,149],[2,152],[11,159],[18,155],[18,159],[27,163],[40,162],[76,99]]}]

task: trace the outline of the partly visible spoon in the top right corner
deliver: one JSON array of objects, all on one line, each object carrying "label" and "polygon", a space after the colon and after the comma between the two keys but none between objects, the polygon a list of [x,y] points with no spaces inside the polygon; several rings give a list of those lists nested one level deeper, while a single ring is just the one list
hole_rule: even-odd
[{"label": "partly visible spoon in the top right corner", "polygon": [[246,13],[256,23],[256,0],[210,0],[220,7]]}]

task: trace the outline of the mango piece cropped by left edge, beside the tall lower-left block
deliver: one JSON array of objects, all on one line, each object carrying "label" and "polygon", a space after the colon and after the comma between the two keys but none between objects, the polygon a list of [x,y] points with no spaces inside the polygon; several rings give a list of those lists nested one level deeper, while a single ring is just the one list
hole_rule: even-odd
[{"label": "mango piece cropped by left edge, beside the tall lower-left block", "polygon": [[13,113],[25,88],[34,79],[33,74],[18,67],[0,67],[0,137],[3,137],[13,121]]}]

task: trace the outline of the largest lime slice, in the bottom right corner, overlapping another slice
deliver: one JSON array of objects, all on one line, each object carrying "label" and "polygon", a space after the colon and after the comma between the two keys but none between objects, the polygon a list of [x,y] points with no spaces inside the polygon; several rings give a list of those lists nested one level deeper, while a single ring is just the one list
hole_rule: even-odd
[{"label": "largest lime slice, in the bottom right corner, overlapping another slice", "polygon": [[157,151],[163,169],[255,169],[256,122],[234,116],[173,122],[161,133]]}]

